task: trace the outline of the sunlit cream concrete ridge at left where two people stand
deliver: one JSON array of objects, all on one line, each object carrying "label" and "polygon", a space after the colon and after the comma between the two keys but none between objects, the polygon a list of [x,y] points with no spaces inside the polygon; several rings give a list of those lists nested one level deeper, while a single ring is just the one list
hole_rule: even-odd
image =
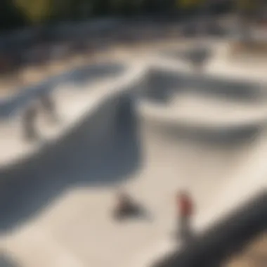
[{"label": "sunlit cream concrete ridge at left where two people stand", "polygon": [[[37,127],[40,131],[41,140],[37,142],[27,143],[24,141],[21,113],[1,121],[0,143],[1,148],[5,149],[6,152],[0,155],[0,166],[5,167],[12,162],[30,157],[30,155],[34,155],[46,147],[47,143],[56,141],[68,131],[67,129],[72,129],[77,121],[81,119],[81,116],[88,114],[89,110],[94,110],[101,99],[108,97],[115,91],[123,90],[127,87],[126,84],[134,84],[134,80],[140,79],[141,75],[143,75],[143,67],[129,63],[128,68],[118,79],[116,77],[103,80],[96,79],[95,82],[89,79],[89,82],[84,85],[63,84],[57,86],[52,96],[56,102],[59,123],[51,124],[45,115],[39,115]],[[38,105],[37,99],[28,99],[28,101],[31,101],[31,104]]]}]

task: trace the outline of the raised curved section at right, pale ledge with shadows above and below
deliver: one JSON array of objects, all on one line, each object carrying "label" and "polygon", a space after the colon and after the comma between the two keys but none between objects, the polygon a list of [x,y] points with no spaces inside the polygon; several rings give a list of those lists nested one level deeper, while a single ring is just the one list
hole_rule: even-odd
[{"label": "raised curved section at right, pale ledge with shadows above and below", "polygon": [[[261,86],[253,82],[152,66],[140,87],[139,115],[153,126],[164,124],[165,131],[174,136],[235,142],[253,138],[266,124],[265,98]],[[195,102],[186,102],[188,98],[183,99],[184,96]],[[171,102],[174,98],[177,103]],[[211,108],[206,108],[209,105]]]}]

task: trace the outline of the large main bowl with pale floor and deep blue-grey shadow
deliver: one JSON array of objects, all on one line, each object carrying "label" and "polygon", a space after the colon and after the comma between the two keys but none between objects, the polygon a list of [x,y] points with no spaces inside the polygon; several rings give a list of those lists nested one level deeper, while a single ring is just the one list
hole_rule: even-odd
[{"label": "large main bowl with pale floor and deep blue-grey shadow", "polygon": [[[173,240],[178,188],[190,190],[201,228],[207,214],[265,185],[264,125],[239,143],[203,143],[179,136],[173,123],[153,124],[157,115],[151,120],[131,97],[115,103],[2,182],[1,252],[18,266],[141,266],[148,248]],[[107,126],[98,125],[92,141],[91,124],[102,120]],[[113,221],[117,188],[126,188],[148,218]]]}]

